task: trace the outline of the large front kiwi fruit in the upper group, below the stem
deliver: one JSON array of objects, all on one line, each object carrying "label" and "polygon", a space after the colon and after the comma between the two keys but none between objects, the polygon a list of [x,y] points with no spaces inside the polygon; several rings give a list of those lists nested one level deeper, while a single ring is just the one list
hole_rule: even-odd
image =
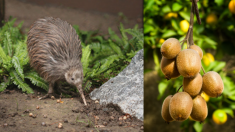
[{"label": "large front kiwi fruit in the upper group, below the stem", "polygon": [[195,77],[201,69],[201,59],[197,51],[184,49],[176,58],[176,65],[179,73],[186,78]]}]

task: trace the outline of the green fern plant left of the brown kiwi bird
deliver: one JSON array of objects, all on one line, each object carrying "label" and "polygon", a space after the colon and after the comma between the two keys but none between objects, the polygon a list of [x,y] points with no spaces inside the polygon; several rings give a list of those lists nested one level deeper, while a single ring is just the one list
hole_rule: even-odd
[{"label": "green fern plant left of the brown kiwi bird", "polygon": [[0,91],[15,84],[23,92],[33,93],[32,88],[25,83],[25,79],[47,90],[48,85],[45,81],[29,69],[26,37],[20,33],[22,24],[13,27],[15,20],[5,23],[0,30],[0,38],[2,38],[0,40]]}]

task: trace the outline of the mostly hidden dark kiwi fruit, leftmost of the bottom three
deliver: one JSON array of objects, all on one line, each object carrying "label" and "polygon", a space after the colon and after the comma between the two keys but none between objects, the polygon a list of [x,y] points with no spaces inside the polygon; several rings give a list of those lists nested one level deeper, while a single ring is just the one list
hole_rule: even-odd
[{"label": "mostly hidden dark kiwi fruit, leftmost of the bottom three", "polygon": [[170,112],[169,112],[169,103],[172,98],[172,95],[169,95],[165,98],[162,104],[162,118],[167,122],[172,122],[174,119],[171,117]]}]

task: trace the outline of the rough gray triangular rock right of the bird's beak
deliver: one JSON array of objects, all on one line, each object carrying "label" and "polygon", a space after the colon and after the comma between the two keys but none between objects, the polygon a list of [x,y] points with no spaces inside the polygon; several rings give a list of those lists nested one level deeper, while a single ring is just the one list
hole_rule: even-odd
[{"label": "rough gray triangular rock right of the bird's beak", "polygon": [[92,100],[100,104],[118,104],[123,112],[144,120],[143,117],[143,68],[144,51],[138,51],[131,63],[116,77],[90,93]]}]

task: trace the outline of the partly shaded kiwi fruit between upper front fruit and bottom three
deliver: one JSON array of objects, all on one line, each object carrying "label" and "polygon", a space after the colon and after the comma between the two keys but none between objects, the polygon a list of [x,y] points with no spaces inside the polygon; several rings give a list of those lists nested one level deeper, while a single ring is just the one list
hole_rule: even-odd
[{"label": "partly shaded kiwi fruit between upper front fruit and bottom three", "polygon": [[192,97],[197,96],[202,88],[202,76],[197,74],[194,78],[184,78],[183,79],[183,89]]}]

